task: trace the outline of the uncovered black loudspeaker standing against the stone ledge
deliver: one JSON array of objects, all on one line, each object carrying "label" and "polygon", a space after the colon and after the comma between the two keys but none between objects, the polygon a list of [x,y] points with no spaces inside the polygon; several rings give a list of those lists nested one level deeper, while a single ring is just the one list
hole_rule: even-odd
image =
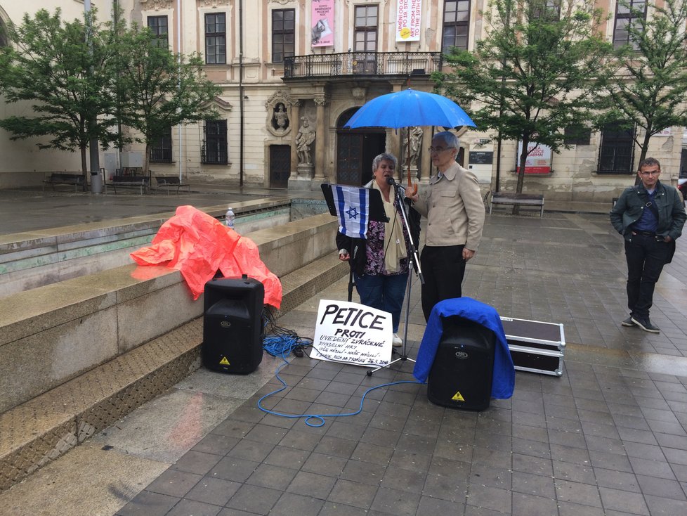
[{"label": "uncovered black loudspeaker standing against the stone ledge", "polygon": [[205,283],[203,365],[222,373],[252,373],[263,359],[265,288],[248,276]]}]

